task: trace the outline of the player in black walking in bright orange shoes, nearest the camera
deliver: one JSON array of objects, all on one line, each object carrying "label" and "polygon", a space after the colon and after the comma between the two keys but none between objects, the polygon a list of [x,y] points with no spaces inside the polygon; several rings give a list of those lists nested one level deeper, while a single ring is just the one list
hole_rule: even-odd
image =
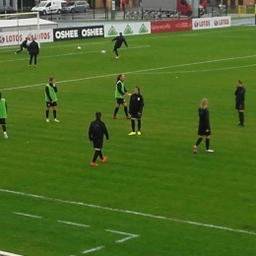
[{"label": "player in black walking in bright orange shoes, nearest the camera", "polygon": [[93,161],[91,162],[92,166],[96,166],[96,159],[99,159],[102,162],[106,161],[106,158],[102,156],[102,147],[103,147],[103,136],[105,135],[106,140],[109,140],[108,132],[105,127],[105,124],[101,121],[101,113],[96,112],[96,120],[90,124],[89,127],[89,140],[94,143],[95,155]]}]

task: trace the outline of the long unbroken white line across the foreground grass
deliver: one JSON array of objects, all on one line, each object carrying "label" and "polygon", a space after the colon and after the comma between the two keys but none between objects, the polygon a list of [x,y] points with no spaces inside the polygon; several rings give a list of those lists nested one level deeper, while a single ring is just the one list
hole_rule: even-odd
[{"label": "long unbroken white line across the foreground grass", "polygon": [[13,190],[8,190],[8,189],[1,189],[0,188],[0,192],[20,195],[20,196],[26,196],[26,197],[32,197],[32,198],[41,199],[41,200],[59,202],[59,203],[63,203],[63,204],[96,208],[96,209],[100,209],[100,210],[104,210],[104,211],[111,211],[111,212],[123,213],[123,214],[128,214],[128,215],[136,215],[136,216],[140,216],[140,217],[148,217],[148,218],[152,218],[152,219],[159,219],[159,220],[164,220],[164,221],[169,221],[169,222],[174,222],[174,223],[200,225],[200,226],[204,226],[204,227],[211,227],[211,228],[216,228],[216,229],[221,229],[221,230],[226,230],[226,231],[256,235],[256,232],[253,232],[253,231],[235,229],[235,228],[230,228],[230,227],[221,226],[221,225],[201,224],[201,223],[197,223],[197,222],[183,221],[183,220],[174,219],[174,218],[167,218],[167,217],[163,217],[163,216],[156,216],[156,215],[144,214],[144,213],[139,213],[139,212],[134,212],[134,211],[120,210],[120,209],[114,209],[114,208],[109,208],[109,207],[96,206],[96,205],[87,204],[87,203],[83,203],[83,202],[68,201],[68,200],[64,200],[64,199],[27,194],[27,193],[24,193],[24,192],[13,191]]}]

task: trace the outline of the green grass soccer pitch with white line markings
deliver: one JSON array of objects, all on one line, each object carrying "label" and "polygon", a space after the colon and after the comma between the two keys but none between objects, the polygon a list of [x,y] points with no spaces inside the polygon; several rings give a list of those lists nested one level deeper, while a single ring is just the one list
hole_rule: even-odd
[{"label": "green grass soccer pitch with white line markings", "polygon": [[[41,44],[36,68],[0,48],[0,250],[26,256],[256,255],[256,31],[239,27]],[[82,49],[78,50],[77,47]],[[101,50],[106,50],[101,54]],[[128,136],[115,79],[141,87],[142,135]],[[44,86],[58,87],[58,119],[45,122]],[[236,81],[246,88],[237,127]],[[197,109],[209,99],[211,149],[192,153]],[[127,98],[127,100],[129,100]],[[88,127],[102,112],[108,160],[91,167]]]}]

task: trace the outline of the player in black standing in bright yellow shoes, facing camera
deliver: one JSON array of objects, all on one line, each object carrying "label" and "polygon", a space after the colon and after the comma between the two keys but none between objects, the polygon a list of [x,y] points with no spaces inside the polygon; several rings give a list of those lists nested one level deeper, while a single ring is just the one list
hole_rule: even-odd
[{"label": "player in black standing in bright yellow shoes, facing camera", "polygon": [[138,121],[138,135],[141,135],[142,126],[142,110],[144,107],[144,98],[141,95],[141,90],[139,87],[135,87],[134,94],[130,98],[129,114],[131,118],[132,132],[128,135],[135,135],[135,119]]}]

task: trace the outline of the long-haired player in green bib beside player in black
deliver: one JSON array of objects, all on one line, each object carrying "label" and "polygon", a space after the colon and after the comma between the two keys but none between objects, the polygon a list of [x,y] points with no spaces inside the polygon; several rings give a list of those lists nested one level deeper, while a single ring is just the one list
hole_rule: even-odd
[{"label": "long-haired player in green bib beside player in black", "polygon": [[116,78],[116,87],[115,87],[116,106],[113,114],[114,119],[117,119],[116,114],[121,104],[124,106],[124,113],[126,118],[129,119],[128,107],[127,107],[127,103],[125,102],[124,96],[131,96],[131,94],[127,92],[123,81],[124,81],[124,75],[123,74],[118,75],[118,77]]}]

